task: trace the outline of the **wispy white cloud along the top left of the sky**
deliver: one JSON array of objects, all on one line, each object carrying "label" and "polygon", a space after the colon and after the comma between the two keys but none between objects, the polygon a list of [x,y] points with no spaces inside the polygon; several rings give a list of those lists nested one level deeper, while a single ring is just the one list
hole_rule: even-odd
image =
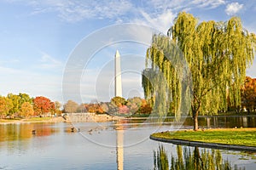
[{"label": "wispy white cloud along the top left of the sky", "polygon": [[24,2],[33,7],[32,14],[53,12],[57,13],[61,20],[67,22],[77,22],[84,19],[113,19],[125,14],[132,8],[131,2],[127,0],[39,0]]}]

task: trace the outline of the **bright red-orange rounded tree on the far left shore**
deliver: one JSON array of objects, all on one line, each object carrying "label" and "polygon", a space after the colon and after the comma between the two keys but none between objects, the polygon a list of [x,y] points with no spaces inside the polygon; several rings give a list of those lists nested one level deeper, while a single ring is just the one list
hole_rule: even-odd
[{"label": "bright red-orange rounded tree on the far left shore", "polygon": [[49,113],[51,109],[50,99],[45,98],[44,96],[38,96],[33,99],[34,112],[37,116],[44,115]]}]

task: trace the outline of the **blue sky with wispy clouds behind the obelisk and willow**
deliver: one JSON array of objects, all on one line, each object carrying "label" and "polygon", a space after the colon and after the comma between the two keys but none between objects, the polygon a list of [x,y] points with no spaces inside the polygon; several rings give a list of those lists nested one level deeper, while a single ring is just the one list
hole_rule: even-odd
[{"label": "blue sky with wispy clouds behind the obelisk and willow", "polygon": [[[256,33],[256,3],[247,0],[0,0],[0,94],[21,92],[66,101],[62,94],[63,72],[84,38],[106,26],[125,23],[151,26],[166,34],[180,11],[200,20],[229,20],[236,15],[248,31]],[[127,57],[122,67],[132,70],[124,75],[125,97],[143,95],[139,72],[143,70],[147,45],[120,42],[103,47],[84,65],[80,99],[73,100],[90,102],[113,97],[111,69],[116,48]],[[131,60],[134,56],[139,58],[137,66]],[[256,77],[255,67],[254,59],[248,76]],[[108,80],[104,86],[103,77]]]}]

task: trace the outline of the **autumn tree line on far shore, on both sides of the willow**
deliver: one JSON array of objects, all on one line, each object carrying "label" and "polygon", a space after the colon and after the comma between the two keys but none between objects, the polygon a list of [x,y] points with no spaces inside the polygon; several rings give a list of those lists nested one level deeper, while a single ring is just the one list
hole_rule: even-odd
[{"label": "autumn tree line on far shore, on both sides of the willow", "polygon": [[[256,111],[256,78],[246,77],[245,82],[240,88],[241,105],[232,105],[228,99],[227,111]],[[94,102],[77,104],[73,100],[68,100],[61,107],[59,101],[51,101],[44,96],[36,98],[30,97],[28,94],[8,94],[0,96],[0,118],[24,117],[32,116],[60,116],[61,113],[96,113],[109,115],[124,116],[146,116],[152,113],[152,101],[134,97],[124,99],[121,97],[113,97],[109,102]]]}]

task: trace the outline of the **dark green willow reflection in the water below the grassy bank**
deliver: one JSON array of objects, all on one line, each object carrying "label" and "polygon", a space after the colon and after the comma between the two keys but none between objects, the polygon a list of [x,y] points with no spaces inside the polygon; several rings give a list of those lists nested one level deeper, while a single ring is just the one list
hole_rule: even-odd
[{"label": "dark green willow reflection in the water below the grassy bank", "polygon": [[163,145],[154,150],[154,170],[241,170],[245,167],[231,167],[230,161],[223,160],[219,150],[199,150],[195,147],[190,150],[177,145],[177,157],[171,156],[171,165]]}]

